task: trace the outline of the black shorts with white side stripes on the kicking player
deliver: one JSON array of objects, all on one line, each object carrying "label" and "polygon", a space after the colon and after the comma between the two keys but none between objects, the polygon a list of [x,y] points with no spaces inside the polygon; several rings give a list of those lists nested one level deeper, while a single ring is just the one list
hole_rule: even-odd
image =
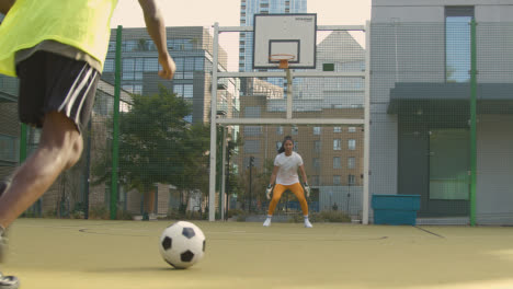
[{"label": "black shorts with white side stripes on the kicking player", "polygon": [[86,61],[36,51],[16,66],[20,120],[43,127],[50,112],[64,113],[79,132],[88,125],[100,73]]}]

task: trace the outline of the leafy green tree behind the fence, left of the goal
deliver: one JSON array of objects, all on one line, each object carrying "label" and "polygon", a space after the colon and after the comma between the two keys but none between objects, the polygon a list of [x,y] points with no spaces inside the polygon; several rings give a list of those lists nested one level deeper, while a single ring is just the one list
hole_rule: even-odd
[{"label": "leafy green tree behind the fence, left of the goal", "polygon": [[[133,95],[130,111],[119,116],[118,174],[125,188],[145,196],[152,196],[158,183],[171,184],[181,192],[206,190],[208,180],[198,176],[208,175],[205,160],[209,130],[204,124],[184,120],[191,111],[186,100],[163,86],[155,95]],[[105,153],[102,159],[104,167],[110,167],[112,155]],[[94,171],[100,172],[98,180],[111,178],[110,170]],[[151,200],[147,199],[145,207],[148,212]]]}]

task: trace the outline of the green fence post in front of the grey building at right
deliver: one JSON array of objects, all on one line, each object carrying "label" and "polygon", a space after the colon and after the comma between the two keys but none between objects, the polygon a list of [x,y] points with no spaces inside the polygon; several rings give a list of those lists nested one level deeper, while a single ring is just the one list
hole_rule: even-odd
[{"label": "green fence post in front of the grey building at right", "polygon": [[476,226],[477,178],[477,44],[476,20],[470,22],[470,226]]}]

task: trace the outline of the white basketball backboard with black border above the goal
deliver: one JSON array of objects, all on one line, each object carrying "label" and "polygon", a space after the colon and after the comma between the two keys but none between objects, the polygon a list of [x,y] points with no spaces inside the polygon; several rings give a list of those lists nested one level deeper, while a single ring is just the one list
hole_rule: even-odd
[{"label": "white basketball backboard with black border above the goal", "polygon": [[290,55],[289,68],[316,68],[317,14],[255,14],[253,69],[277,68],[273,55]]}]

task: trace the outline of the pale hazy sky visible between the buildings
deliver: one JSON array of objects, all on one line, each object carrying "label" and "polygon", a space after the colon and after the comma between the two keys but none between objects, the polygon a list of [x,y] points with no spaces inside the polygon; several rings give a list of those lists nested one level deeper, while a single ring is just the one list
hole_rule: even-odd
[{"label": "pale hazy sky visible between the buildings", "polygon": [[[317,13],[318,25],[365,25],[371,20],[372,0],[309,0],[308,13]],[[159,0],[166,26],[210,27],[240,25],[240,0]],[[137,0],[118,0],[111,21],[111,27],[145,27],[145,20]],[[220,45],[233,55],[231,65],[237,67],[238,36],[220,37]],[[365,46],[363,33],[352,33]]]}]

